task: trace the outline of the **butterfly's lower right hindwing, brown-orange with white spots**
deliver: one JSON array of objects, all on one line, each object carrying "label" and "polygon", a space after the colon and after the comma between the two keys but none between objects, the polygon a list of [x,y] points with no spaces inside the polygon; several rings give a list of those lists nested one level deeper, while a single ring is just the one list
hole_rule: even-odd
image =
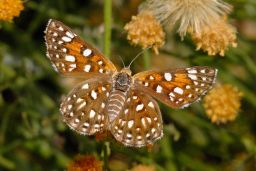
[{"label": "butterfly's lower right hindwing, brown-orange with white spots", "polygon": [[153,144],[163,136],[161,112],[153,98],[132,90],[122,113],[111,123],[113,136],[127,146]]}]

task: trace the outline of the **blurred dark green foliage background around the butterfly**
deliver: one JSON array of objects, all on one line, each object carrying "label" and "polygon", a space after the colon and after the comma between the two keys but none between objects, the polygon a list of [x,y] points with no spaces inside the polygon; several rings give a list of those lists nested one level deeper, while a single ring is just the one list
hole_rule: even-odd
[{"label": "blurred dark green foliage background around the butterfly", "polygon": [[[61,98],[81,80],[58,75],[46,57],[44,30],[50,18],[103,51],[106,1],[28,0],[11,6],[19,0],[0,0],[0,13],[10,5],[16,15],[8,19],[11,14],[0,14],[0,170],[75,170],[76,160],[92,171],[256,170],[256,1],[226,2],[233,6],[228,20],[237,30],[237,48],[230,47],[224,57],[208,56],[195,50],[189,36],[181,41],[175,30],[166,29],[159,54],[147,51],[132,70],[213,66],[219,70],[217,84],[234,89],[218,96],[243,94],[236,101],[241,107],[234,109],[232,119],[214,122],[207,114],[207,100],[182,110],[159,103],[164,137],[153,147],[137,149],[117,143],[110,134],[78,135],[62,122]],[[118,68],[118,56],[128,65],[141,51],[129,44],[124,31],[141,3],[112,0],[109,58]]]}]

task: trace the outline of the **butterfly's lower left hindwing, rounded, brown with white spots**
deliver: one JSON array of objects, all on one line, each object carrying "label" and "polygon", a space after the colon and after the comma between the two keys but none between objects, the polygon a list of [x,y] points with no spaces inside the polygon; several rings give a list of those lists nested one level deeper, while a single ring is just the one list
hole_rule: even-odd
[{"label": "butterfly's lower left hindwing, rounded, brown with white spots", "polygon": [[111,84],[105,79],[84,81],[65,97],[60,111],[64,122],[80,134],[92,135],[106,126],[107,115],[104,112]]}]

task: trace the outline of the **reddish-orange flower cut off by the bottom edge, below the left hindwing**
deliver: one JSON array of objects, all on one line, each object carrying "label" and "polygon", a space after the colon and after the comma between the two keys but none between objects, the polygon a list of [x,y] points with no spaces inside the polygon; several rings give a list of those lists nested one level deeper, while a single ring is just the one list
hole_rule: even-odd
[{"label": "reddish-orange flower cut off by the bottom edge, below the left hindwing", "polygon": [[102,171],[102,162],[92,155],[78,155],[68,166],[68,171]]}]

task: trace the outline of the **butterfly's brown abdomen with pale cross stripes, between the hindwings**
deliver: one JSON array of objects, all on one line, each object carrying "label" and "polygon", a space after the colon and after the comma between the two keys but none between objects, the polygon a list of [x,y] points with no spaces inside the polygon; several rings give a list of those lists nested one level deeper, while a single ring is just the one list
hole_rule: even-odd
[{"label": "butterfly's brown abdomen with pale cross stripes, between the hindwings", "polygon": [[110,123],[113,122],[113,120],[115,120],[115,118],[122,111],[126,100],[126,95],[127,92],[115,89],[110,93],[108,104],[106,106]]}]

